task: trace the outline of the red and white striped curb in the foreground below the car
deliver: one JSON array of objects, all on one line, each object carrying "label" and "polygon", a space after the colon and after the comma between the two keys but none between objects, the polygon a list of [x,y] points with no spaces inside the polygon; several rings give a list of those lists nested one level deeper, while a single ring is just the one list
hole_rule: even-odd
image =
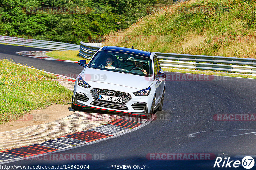
[{"label": "red and white striped curb in the foreground below the car", "polygon": [[107,138],[129,131],[146,123],[147,121],[151,122],[155,118],[156,115],[153,115],[153,117],[150,119],[122,116],[108,124],[93,129],[77,132],[21,148],[2,151],[0,152],[0,162],[4,163],[5,161],[13,159],[24,159],[24,157],[35,156],[47,152],[70,148],[76,145],[86,144],[95,140]]}]

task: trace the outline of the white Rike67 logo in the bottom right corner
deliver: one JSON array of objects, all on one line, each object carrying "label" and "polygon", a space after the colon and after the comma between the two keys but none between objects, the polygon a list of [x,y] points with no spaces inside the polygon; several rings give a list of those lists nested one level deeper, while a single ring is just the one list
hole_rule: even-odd
[{"label": "white Rike67 logo in the bottom right corner", "polygon": [[225,158],[221,158],[221,157],[217,157],[214,163],[214,168],[218,167],[218,168],[237,168],[239,166],[243,166],[245,169],[251,169],[254,166],[254,159],[251,156],[245,156],[242,161],[240,160],[230,160],[230,157],[225,157]]}]

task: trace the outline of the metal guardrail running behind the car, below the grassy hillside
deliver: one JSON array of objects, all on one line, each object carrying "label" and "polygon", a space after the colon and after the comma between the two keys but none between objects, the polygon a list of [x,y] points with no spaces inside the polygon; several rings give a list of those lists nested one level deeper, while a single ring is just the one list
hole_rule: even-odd
[{"label": "metal guardrail running behind the car, below the grassy hillside", "polygon": [[[89,46],[81,41],[79,55],[86,59],[91,59],[98,49],[100,49],[100,47]],[[256,74],[256,59],[159,52],[153,53],[156,53],[160,59],[160,65],[162,67]]]}]

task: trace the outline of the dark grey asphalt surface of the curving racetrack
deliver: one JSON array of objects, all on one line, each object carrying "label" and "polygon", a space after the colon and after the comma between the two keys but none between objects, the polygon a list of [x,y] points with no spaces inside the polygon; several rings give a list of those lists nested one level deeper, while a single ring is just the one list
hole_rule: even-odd
[{"label": "dark grey asphalt surface of the curving racetrack", "polygon": [[[17,51],[29,50],[40,51],[38,48],[0,45],[0,57],[12,58],[16,63],[56,74],[79,74],[83,69],[77,63],[34,59],[15,54]],[[231,160],[240,161],[244,156],[255,155],[255,121],[217,121],[213,118],[214,114],[255,114],[255,89],[255,79],[218,77],[217,80],[209,81],[167,80],[163,111],[156,112],[156,120],[117,137],[56,152],[88,153],[94,160],[34,159],[19,160],[5,165],[86,164],[90,169],[113,169],[111,165],[145,165],[145,169],[224,169],[213,168],[215,159],[149,160],[146,155],[213,153],[216,157],[225,154],[231,157]],[[193,137],[193,133],[197,133],[194,134],[196,137]],[[100,154],[103,155],[102,160],[97,159]]]}]

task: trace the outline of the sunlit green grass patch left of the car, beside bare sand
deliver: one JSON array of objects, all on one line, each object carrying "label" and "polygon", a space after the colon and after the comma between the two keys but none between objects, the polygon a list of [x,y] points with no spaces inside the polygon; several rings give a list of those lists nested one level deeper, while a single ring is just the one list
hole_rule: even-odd
[{"label": "sunlit green grass patch left of the car, beside bare sand", "polygon": [[72,92],[52,74],[0,60],[0,123],[18,119],[24,112],[51,104],[70,104]]}]

